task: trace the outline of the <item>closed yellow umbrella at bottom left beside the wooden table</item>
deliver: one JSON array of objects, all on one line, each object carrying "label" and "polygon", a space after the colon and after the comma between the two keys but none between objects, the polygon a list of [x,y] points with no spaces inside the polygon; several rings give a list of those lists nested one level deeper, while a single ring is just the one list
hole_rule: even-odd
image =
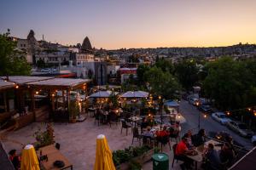
[{"label": "closed yellow umbrella at bottom left beside the wooden table", "polygon": [[22,150],[20,170],[40,170],[34,146],[27,144]]}]

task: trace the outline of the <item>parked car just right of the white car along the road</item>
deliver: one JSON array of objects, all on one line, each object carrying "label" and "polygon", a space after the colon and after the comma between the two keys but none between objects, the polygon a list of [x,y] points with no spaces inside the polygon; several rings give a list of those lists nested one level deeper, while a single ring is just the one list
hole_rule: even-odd
[{"label": "parked car just right of the white car along the road", "polygon": [[239,133],[243,137],[252,138],[253,136],[253,131],[250,130],[247,125],[242,122],[230,121],[227,122],[227,127],[236,133]]}]

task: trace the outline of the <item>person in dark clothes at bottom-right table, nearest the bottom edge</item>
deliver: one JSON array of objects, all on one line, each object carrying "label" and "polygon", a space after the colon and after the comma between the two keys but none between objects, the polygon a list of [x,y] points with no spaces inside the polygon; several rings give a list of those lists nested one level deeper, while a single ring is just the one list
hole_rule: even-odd
[{"label": "person in dark clothes at bottom-right table, nearest the bottom edge", "polygon": [[206,169],[221,169],[221,162],[218,156],[218,151],[214,150],[213,144],[208,144],[205,159]]}]

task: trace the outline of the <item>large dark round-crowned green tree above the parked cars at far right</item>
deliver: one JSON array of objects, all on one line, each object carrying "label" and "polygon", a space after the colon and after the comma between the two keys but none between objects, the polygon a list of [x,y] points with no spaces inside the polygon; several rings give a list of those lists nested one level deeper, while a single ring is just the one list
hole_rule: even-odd
[{"label": "large dark round-crowned green tree above the parked cars at far right", "polygon": [[254,95],[254,80],[244,62],[223,57],[206,66],[208,75],[203,89],[219,109],[227,111],[250,103],[248,97]]}]

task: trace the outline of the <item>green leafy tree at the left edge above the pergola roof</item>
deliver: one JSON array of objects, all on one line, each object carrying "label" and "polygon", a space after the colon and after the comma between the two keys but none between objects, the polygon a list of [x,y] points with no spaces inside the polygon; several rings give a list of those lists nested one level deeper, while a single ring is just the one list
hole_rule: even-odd
[{"label": "green leafy tree at the left edge above the pergola roof", "polygon": [[30,75],[31,66],[24,54],[16,50],[16,42],[7,33],[0,34],[0,76]]}]

